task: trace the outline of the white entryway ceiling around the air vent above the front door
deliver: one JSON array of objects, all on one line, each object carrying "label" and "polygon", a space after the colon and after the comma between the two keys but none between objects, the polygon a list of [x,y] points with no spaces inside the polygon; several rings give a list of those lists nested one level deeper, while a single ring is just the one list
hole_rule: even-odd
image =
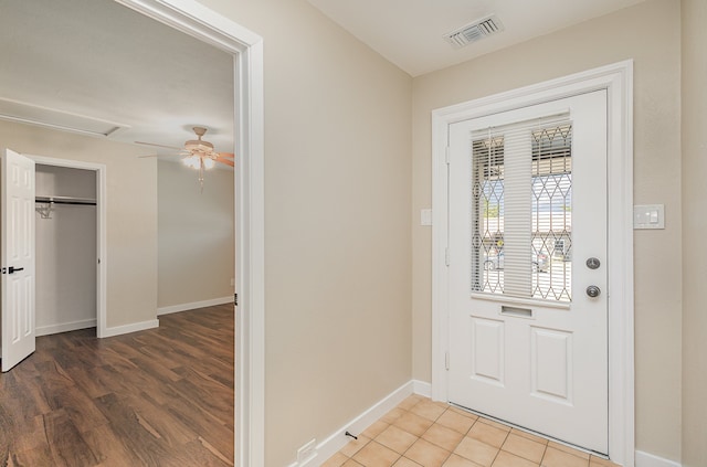
[{"label": "white entryway ceiling around the air vent above the front door", "polygon": [[[412,76],[547,34],[644,0],[308,0]],[[495,13],[505,30],[453,49],[443,35]]]}]

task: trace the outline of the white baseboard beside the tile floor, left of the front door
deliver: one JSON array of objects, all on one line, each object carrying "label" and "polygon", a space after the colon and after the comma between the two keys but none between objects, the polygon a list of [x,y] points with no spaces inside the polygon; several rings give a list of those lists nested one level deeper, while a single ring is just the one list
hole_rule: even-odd
[{"label": "white baseboard beside the tile floor, left of the front door", "polygon": [[346,446],[349,441],[351,441],[346,436],[346,432],[359,435],[388,412],[395,408],[395,406],[404,401],[409,395],[414,393],[429,396],[430,392],[430,383],[416,380],[407,382],[319,443],[315,448],[314,455],[308,459],[300,463],[294,463],[289,465],[289,467],[319,467],[329,457],[334,456],[344,446]]}]

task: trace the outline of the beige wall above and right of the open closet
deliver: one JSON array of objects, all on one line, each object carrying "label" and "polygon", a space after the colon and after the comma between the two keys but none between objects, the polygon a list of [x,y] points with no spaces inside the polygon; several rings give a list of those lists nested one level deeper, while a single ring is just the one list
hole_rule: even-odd
[{"label": "beige wall above and right of the open closet", "polygon": [[133,145],[0,120],[18,152],[103,163],[107,176],[106,325],[152,320],[157,305],[157,163]]}]

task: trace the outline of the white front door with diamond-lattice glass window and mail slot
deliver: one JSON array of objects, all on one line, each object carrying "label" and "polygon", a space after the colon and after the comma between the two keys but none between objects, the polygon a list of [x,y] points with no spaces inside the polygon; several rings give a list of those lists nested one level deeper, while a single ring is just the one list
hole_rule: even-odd
[{"label": "white front door with diamond-lattice glass window and mail slot", "polygon": [[608,453],[606,93],[450,126],[449,400]]}]

